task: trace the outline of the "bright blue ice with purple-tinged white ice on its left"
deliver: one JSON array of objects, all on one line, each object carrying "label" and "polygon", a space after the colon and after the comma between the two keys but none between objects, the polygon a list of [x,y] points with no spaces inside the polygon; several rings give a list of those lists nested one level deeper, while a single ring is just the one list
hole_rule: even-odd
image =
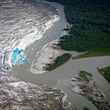
[{"label": "bright blue ice with purple-tinged white ice on its left", "polygon": [[[11,55],[11,58],[10,58]],[[21,48],[15,49],[0,49],[0,71],[6,73],[11,67],[16,64],[27,64],[27,57]]]}]

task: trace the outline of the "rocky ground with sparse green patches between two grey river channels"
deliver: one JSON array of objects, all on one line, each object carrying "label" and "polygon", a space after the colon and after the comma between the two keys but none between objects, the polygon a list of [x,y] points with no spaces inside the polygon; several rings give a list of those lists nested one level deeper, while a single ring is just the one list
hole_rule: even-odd
[{"label": "rocky ground with sparse green patches between two grey river channels", "polygon": [[86,97],[98,110],[109,110],[110,103],[106,95],[97,86],[91,73],[80,71],[72,78],[72,91]]}]

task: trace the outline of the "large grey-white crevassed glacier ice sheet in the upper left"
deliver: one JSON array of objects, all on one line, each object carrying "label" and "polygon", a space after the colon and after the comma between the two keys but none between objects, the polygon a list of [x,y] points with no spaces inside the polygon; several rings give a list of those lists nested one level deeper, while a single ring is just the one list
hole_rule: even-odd
[{"label": "large grey-white crevassed glacier ice sheet in the upper left", "polygon": [[8,62],[11,65],[13,49],[25,50],[43,37],[44,33],[60,19],[58,12],[48,2],[36,0],[0,1],[0,48],[11,49]]}]

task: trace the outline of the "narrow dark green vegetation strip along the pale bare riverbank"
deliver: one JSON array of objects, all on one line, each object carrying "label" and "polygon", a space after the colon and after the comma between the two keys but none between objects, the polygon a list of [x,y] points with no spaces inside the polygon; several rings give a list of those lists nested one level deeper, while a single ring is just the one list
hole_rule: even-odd
[{"label": "narrow dark green vegetation strip along the pale bare riverbank", "polygon": [[58,66],[61,66],[65,62],[67,62],[71,58],[71,54],[65,53],[62,56],[56,58],[53,64],[47,64],[46,70],[52,71],[56,69]]}]

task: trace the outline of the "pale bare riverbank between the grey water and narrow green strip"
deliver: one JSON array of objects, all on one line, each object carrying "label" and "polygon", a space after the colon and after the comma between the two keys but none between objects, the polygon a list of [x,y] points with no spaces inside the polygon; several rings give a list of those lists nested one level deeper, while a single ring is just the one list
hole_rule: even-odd
[{"label": "pale bare riverbank between the grey water and narrow green strip", "polygon": [[58,41],[51,41],[43,46],[43,48],[38,51],[35,58],[31,64],[30,71],[35,74],[42,74],[47,72],[47,65],[52,65],[56,58],[62,56],[64,51],[57,46]]}]

